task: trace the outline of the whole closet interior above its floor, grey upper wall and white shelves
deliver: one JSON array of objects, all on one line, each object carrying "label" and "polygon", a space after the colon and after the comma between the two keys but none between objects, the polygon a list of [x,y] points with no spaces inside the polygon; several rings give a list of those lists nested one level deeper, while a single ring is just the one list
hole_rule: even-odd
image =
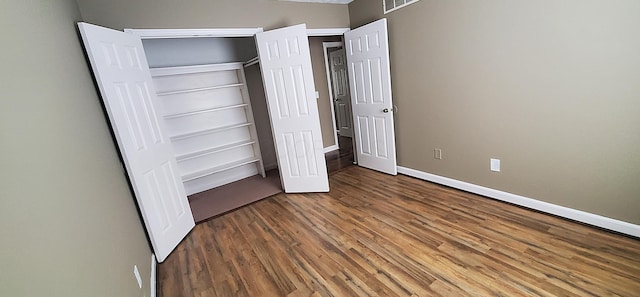
[{"label": "whole closet interior above its floor, grey upper wall and white shelves", "polygon": [[277,166],[254,38],[143,45],[188,195]]}]

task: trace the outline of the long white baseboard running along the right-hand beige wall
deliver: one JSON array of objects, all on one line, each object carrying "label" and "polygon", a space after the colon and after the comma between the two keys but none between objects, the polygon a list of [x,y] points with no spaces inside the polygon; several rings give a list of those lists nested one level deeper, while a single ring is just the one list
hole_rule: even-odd
[{"label": "long white baseboard running along the right-hand beige wall", "polygon": [[528,198],[516,194],[503,192],[483,186],[474,185],[471,183],[455,180],[448,177],[443,177],[423,171],[398,166],[398,173],[412,176],[415,178],[427,180],[437,184],[449,186],[452,188],[460,189],[463,191],[471,192],[474,194],[486,196],[500,201],[513,203],[519,206],[528,207],[545,213],[557,215],[563,218],[575,220],[578,222],[586,223],[589,225],[601,227],[604,229],[620,232],[623,234],[640,237],[640,225],[627,223],[624,221],[603,217],[597,214],[560,206],[533,198]]}]

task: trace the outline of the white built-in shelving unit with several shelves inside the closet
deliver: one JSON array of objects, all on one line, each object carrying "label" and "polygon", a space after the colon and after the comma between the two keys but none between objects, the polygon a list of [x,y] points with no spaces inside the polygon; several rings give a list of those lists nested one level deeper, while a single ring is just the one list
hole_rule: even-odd
[{"label": "white built-in shelving unit with several shelves inside the closet", "polygon": [[175,158],[187,195],[265,176],[242,63],[154,68],[151,76],[163,121],[180,131],[170,140],[182,152]]}]

